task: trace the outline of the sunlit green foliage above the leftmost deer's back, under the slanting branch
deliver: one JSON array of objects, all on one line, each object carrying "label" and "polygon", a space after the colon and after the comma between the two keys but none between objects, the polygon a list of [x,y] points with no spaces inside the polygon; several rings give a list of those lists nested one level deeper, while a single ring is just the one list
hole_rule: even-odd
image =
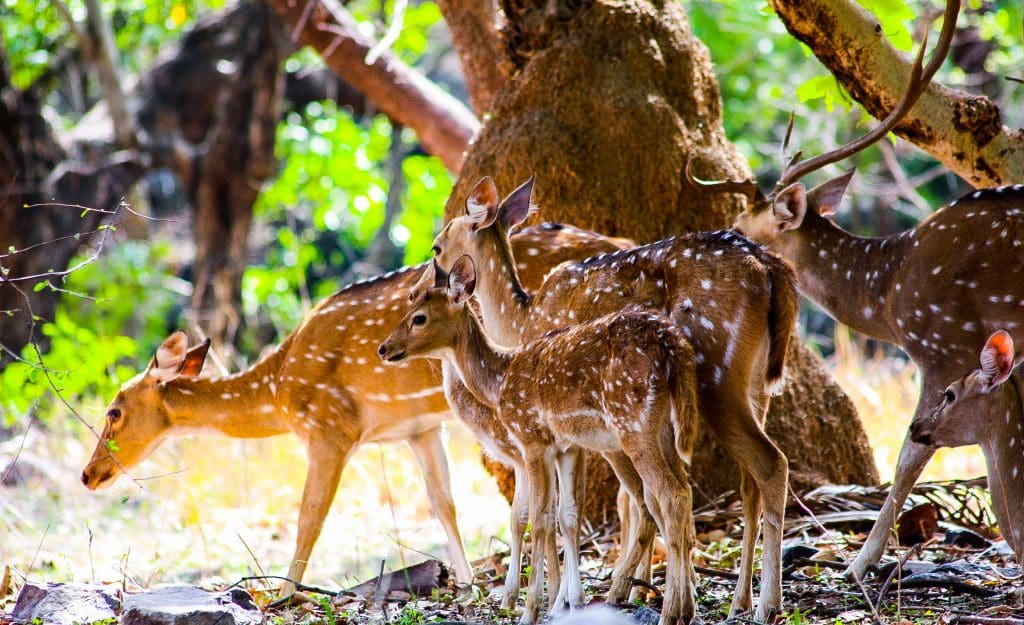
[{"label": "sunlit green foliage above the leftmost deer's back, under the slanting branch", "polygon": [[[384,220],[393,140],[408,147],[415,136],[395,136],[383,116],[360,125],[333,102],[312,102],[282,122],[281,170],[255,207],[272,238],[265,262],[243,277],[250,322],[262,316],[279,333],[290,331],[302,318],[301,293],[316,299],[342,286],[339,277],[366,254]],[[452,178],[438,159],[425,156],[407,157],[402,175],[402,212],[390,237],[404,247],[404,262],[416,263],[430,254]]]}]

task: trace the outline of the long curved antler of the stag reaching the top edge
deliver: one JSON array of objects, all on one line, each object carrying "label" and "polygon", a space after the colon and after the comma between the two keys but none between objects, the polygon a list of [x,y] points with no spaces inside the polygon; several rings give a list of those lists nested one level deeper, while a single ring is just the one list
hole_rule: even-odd
[{"label": "long curved antler of the stag reaching the top edge", "polygon": [[[925,88],[928,83],[931,82],[932,77],[938,72],[939,68],[942,66],[942,61],[946,57],[946,53],[949,51],[949,44],[953,38],[953,32],[956,30],[956,15],[959,13],[961,3],[959,0],[948,0],[946,2],[946,10],[943,12],[942,17],[942,32],[939,34],[938,44],[935,46],[935,53],[932,54],[932,58],[928,61],[928,67],[924,67],[925,58],[925,48],[928,46],[928,33],[925,33],[925,39],[921,42],[921,48],[918,50],[918,55],[913,59],[913,66],[910,69],[910,80],[907,82],[906,91],[903,93],[903,97],[900,99],[896,108],[882,121],[881,124],[871,129],[870,132],[861,136],[860,138],[854,139],[845,145],[841,145],[831,152],[819,155],[804,161],[803,163],[797,163],[799,159],[799,153],[794,155],[791,159],[791,166],[783,166],[782,175],[779,177],[778,182],[775,184],[775,190],[772,195],[778,193],[785,186],[796,182],[805,175],[811,173],[812,171],[817,171],[826,165],[831,165],[838,161],[849,158],[861,150],[864,150],[871,143],[878,141],[886,134],[892,130],[896,124],[900,122],[901,119],[913,108],[913,105],[921,97],[921,94],[925,92]],[[791,121],[791,125],[792,125]],[[788,143],[788,131],[786,131],[786,144]],[[783,148],[784,150],[784,148]]]}]

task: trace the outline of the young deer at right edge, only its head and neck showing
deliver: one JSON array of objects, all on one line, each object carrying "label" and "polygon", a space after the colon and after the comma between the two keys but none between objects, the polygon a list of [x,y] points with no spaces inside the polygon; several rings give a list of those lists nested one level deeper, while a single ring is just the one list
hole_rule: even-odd
[{"label": "young deer at right edge, only its head and neck showing", "polygon": [[1014,339],[1010,333],[1006,330],[993,332],[982,347],[981,366],[946,386],[938,407],[910,423],[910,440],[932,449],[981,446],[999,530],[1018,561],[1024,562],[1024,375],[1020,370],[1021,362],[1024,362],[1024,350],[1014,357]]}]

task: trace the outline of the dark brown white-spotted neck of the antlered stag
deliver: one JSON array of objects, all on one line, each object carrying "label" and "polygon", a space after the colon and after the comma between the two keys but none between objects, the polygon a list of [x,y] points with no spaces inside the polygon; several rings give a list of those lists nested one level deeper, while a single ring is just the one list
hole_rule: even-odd
[{"label": "dark brown white-spotted neck of the antlered stag", "polygon": [[898,343],[885,303],[911,237],[858,237],[808,211],[804,223],[780,242],[808,299],[858,332]]}]

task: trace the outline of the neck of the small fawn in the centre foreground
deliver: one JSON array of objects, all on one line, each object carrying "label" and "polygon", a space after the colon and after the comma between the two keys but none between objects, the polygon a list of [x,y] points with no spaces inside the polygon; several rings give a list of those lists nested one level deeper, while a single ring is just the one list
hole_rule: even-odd
[{"label": "neck of the small fawn in the centre foreground", "polygon": [[445,352],[449,363],[459,373],[462,383],[492,410],[498,410],[505,373],[512,352],[496,345],[484,333],[480,322],[468,306],[463,309],[462,331]]}]

